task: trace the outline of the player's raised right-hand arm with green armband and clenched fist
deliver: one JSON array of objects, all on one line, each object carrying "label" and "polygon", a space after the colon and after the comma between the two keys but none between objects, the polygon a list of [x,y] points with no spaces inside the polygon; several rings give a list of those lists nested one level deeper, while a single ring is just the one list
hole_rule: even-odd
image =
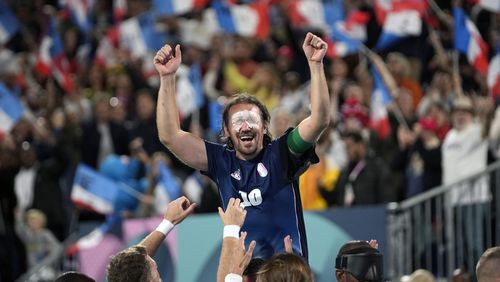
[{"label": "player's raised right-hand arm with green armband and clenched fist", "polygon": [[300,122],[300,136],[296,133],[290,136],[293,140],[289,140],[289,148],[297,154],[303,153],[307,144],[316,142],[330,122],[330,97],[323,66],[327,48],[328,45],[320,37],[307,33],[302,49],[311,72],[311,115]]}]

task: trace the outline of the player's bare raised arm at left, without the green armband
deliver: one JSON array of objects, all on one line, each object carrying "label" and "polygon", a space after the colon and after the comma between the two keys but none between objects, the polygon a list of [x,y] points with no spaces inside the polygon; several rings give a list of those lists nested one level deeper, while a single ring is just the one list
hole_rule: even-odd
[{"label": "player's bare raised arm at left, without the green armband", "polygon": [[182,60],[181,47],[174,50],[163,46],[154,57],[154,65],[160,76],[156,123],[160,141],[188,166],[207,171],[208,160],[204,141],[181,130],[176,103],[175,73]]}]

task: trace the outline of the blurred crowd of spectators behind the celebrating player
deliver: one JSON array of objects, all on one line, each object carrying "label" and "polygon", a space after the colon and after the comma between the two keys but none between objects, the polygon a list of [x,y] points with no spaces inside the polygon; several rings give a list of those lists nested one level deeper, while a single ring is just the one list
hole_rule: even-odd
[{"label": "blurred crowd of spectators behind the celebrating player", "polygon": [[[118,21],[113,1],[95,1],[88,33],[74,24],[58,1],[4,2],[21,28],[0,48],[0,79],[22,101],[25,113],[10,132],[0,135],[0,242],[5,245],[0,250],[7,252],[1,258],[23,261],[23,254],[13,251],[22,244],[30,254],[47,252],[35,245],[57,248],[57,241],[74,231],[79,220],[102,219],[89,212],[76,213],[71,203],[73,176],[80,163],[109,177],[142,183],[137,190],[144,196],[128,207],[127,216],[155,213],[151,182],[159,158],[182,184],[183,194],[198,203],[197,212],[217,211],[217,187],[179,162],[158,139],[158,80],[147,67],[152,59],[136,57],[123,46],[113,46],[113,58],[104,58],[109,59],[106,63],[99,58],[98,47]],[[151,5],[150,1],[126,2],[125,18],[142,14]],[[269,2],[267,38],[214,33],[203,24],[203,9],[157,19],[166,41],[181,44],[183,50],[177,79],[183,129],[217,141],[217,109],[238,92],[254,94],[268,107],[274,137],[307,115],[309,78],[300,46],[310,27],[292,25],[288,1]],[[451,10],[449,1],[436,2],[442,10]],[[500,15],[467,1],[462,6],[472,15],[493,57],[499,44]],[[370,15],[365,45],[372,48],[381,26],[371,1],[344,1],[344,10]],[[450,14],[446,19],[453,20]],[[71,87],[36,68],[51,20],[61,35]],[[452,41],[452,27],[441,22],[432,29],[423,25],[421,35],[378,52],[398,86],[394,103],[388,107],[390,130],[385,135],[370,127],[374,84],[370,60],[359,53],[327,60],[334,114],[316,145],[321,162],[300,179],[305,210],[401,201],[480,171],[497,159],[500,110],[495,95],[500,93],[489,93],[486,77],[464,55],[456,59],[458,67],[453,67]],[[196,75],[199,80],[193,79]],[[454,151],[457,146],[464,148]],[[477,149],[476,154],[470,154],[471,148]],[[478,197],[487,198],[485,193]],[[33,229],[47,233],[38,239],[34,231],[17,236],[16,222],[19,225],[26,216],[40,220],[42,226],[35,224]],[[28,227],[33,225],[29,220]],[[36,260],[29,258],[30,264]],[[7,264],[18,268],[12,269],[15,274],[26,267],[2,259],[0,269],[7,269]]]}]

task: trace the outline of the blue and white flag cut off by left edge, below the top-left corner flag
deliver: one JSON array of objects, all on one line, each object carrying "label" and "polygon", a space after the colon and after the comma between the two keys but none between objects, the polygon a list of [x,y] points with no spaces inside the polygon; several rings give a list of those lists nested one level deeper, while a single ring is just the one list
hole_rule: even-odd
[{"label": "blue and white flag cut off by left edge, below the top-left corner flag", "polygon": [[23,113],[23,105],[16,94],[0,83],[0,133],[9,132]]}]

